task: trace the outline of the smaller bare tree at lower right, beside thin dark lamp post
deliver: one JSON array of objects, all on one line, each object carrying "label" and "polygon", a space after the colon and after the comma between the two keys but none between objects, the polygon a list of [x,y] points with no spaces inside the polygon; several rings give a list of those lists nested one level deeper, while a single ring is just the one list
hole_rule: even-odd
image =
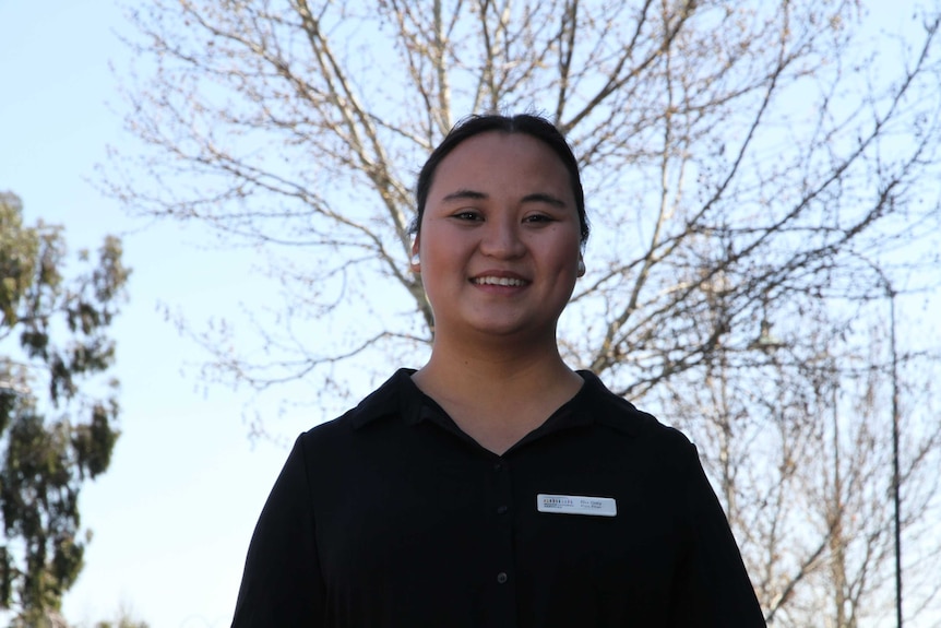
[{"label": "smaller bare tree at lower right, beside thin dark lamp post", "polygon": [[[750,356],[720,351],[657,390],[716,481],[769,623],[877,626],[894,616],[895,599],[892,360],[883,330],[862,330],[869,342],[860,348],[869,353],[858,355],[833,337],[831,321],[814,318],[753,345],[764,355],[760,365],[745,367]],[[793,342],[797,334],[814,341],[814,353]],[[941,592],[929,558],[941,554],[941,424],[930,390],[937,359],[901,356],[910,400],[901,417],[902,528],[912,557],[906,581],[917,583],[908,607],[919,609],[937,608]]]}]

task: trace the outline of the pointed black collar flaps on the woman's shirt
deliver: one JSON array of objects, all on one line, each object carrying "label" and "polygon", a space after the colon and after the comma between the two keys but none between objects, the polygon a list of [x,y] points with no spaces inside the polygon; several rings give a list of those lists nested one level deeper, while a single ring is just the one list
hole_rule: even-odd
[{"label": "pointed black collar flaps on the woman's shirt", "polygon": [[[412,374],[415,369],[400,368],[382,386],[364,399],[349,413],[353,427],[358,429],[379,418],[401,416],[407,425],[415,425],[428,419],[428,405],[433,400],[422,393]],[[636,410],[633,404],[609,391],[598,377],[587,370],[579,375],[585,383],[561,410],[557,412],[544,428],[550,428],[550,423],[558,418],[563,425],[552,425],[551,428],[575,427],[591,423],[601,423],[624,434],[635,436],[650,420],[656,420],[651,415]],[[541,431],[540,428],[537,431]]]}]

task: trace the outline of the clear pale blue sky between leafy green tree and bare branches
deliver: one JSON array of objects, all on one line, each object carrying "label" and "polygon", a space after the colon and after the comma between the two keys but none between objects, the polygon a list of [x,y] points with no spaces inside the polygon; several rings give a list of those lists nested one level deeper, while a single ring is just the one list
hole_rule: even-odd
[{"label": "clear pale blue sky between leafy green tree and bare branches", "polygon": [[[94,7],[94,10],[90,8]],[[19,194],[27,224],[65,226],[72,250],[122,236],[133,268],[114,336],[121,428],[109,471],[82,494],[94,538],[64,614],[88,624],[123,605],[153,628],[228,626],[254,521],[286,455],[254,447],[246,395],[201,390],[204,357],[158,311],[203,320],[235,308],[250,260],[209,251],[205,234],[132,222],[90,182],[120,135],[109,60],[127,52],[111,2],[0,0],[0,190]],[[282,434],[309,427],[278,423]],[[2,618],[2,617],[0,617]]]}]

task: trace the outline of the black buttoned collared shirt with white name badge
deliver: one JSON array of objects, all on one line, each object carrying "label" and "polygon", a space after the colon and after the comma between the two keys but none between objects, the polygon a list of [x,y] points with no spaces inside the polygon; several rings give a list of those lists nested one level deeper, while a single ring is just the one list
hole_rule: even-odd
[{"label": "black buttoned collared shirt with white name badge", "polygon": [[234,627],[751,628],[695,448],[597,377],[502,455],[402,369],[302,434]]}]

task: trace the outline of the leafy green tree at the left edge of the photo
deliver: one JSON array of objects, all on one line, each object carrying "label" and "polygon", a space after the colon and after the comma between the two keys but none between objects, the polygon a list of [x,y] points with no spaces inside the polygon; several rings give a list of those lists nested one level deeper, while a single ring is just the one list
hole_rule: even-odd
[{"label": "leafy green tree at the left edge of the photo", "polygon": [[107,331],[129,270],[107,237],[67,275],[61,227],[25,226],[22,210],[0,193],[0,608],[17,626],[55,626],[82,569],[80,490],[119,435]]}]

